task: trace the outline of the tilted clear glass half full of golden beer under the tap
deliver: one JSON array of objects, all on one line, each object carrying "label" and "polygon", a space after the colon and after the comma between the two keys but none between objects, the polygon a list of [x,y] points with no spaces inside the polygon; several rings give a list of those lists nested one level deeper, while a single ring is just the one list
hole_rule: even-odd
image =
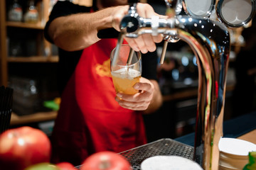
[{"label": "tilted clear glass half full of golden beer under the tap", "polygon": [[119,56],[115,63],[112,62],[114,57],[114,50],[112,50],[111,59],[111,74],[114,84],[114,89],[117,93],[121,92],[124,94],[136,94],[138,90],[134,89],[133,86],[139,82],[142,76],[142,55],[140,52],[134,52],[132,55],[132,62],[127,64],[129,57],[129,51],[131,47],[124,44],[121,45],[119,50]]}]

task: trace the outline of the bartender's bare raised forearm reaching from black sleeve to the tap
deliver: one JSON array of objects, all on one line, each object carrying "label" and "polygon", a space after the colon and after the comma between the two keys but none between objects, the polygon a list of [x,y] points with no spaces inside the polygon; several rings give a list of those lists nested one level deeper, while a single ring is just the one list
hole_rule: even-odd
[{"label": "bartender's bare raised forearm reaching from black sleeve to the tap", "polygon": [[111,28],[113,14],[127,6],[105,8],[95,13],[77,13],[55,18],[50,23],[48,34],[55,45],[67,51],[82,50],[94,44],[97,30]]}]

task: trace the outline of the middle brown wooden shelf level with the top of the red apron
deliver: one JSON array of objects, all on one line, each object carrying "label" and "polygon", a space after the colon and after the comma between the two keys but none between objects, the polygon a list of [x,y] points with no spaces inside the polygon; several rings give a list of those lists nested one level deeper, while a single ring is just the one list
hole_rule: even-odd
[{"label": "middle brown wooden shelf level with the top of the red apron", "polygon": [[58,62],[58,56],[7,57],[7,62]]}]

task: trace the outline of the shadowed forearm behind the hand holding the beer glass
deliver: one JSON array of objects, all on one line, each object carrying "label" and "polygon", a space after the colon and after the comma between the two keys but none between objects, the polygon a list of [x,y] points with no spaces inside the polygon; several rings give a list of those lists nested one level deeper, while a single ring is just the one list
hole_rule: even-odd
[{"label": "shadowed forearm behind the hand holding the beer glass", "polygon": [[154,111],[159,109],[163,103],[163,98],[161,95],[159,84],[157,83],[156,80],[150,80],[150,81],[154,85],[154,94],[149,104],[149,107],[145,111],[143,111],[144,114],[153,113]]}]

